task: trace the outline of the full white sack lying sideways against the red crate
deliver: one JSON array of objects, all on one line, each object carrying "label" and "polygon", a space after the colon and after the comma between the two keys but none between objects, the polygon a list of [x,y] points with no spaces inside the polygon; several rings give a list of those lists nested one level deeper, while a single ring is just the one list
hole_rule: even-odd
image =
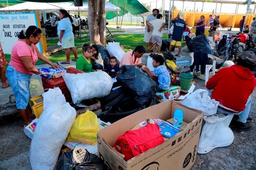
[{"label": "full white sack lying sideways against the red crate", "polygon": [[86,99],[107,96],[113,86],[112,78],[105,71],[67,73],[63,78],[75,104]]}]

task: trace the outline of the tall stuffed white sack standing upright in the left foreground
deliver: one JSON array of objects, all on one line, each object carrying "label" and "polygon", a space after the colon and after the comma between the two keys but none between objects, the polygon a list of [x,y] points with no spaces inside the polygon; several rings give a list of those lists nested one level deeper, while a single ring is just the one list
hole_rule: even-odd
[{"label": "tall stuffed white sack standing upright in the left foreground", "polygon": [[44,104],[44,111],[38,119],[29,151],[33,170],[54,169],[61,147],[76,119],[76,110],[66,103],[59,88],[49,89],[43,96],[47,105]]}]

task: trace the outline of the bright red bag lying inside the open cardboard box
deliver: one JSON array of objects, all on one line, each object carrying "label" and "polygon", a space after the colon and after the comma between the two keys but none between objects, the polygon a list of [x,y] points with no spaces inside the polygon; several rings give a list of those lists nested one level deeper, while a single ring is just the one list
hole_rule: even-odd
[{"label": "bright red bag lying inside the open cardboard box", "polygon": [[125,161],[128,161],[163,142],[159,126],[148,123],[140,129],[126,131],[116,139],[114,147],[125,156]]}]

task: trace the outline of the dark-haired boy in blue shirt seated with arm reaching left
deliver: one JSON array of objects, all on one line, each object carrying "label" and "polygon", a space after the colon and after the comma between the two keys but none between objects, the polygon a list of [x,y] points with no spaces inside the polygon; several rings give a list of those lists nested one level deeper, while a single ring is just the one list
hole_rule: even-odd
[{"label": "dark-haired boy in blue shirt seated with arm reaching left", "polygon": [[[148,74],[148,76],[157,82],[161,91],[166,91],[169,89],[171,84],[171,77],[167,68],[163,66],[164,60],[160,55],[154,55],[152,65],[155,68],[154,74],[147,67],[142,67],[142,71]],[[160,92],[160,91],[159,91]]]}]

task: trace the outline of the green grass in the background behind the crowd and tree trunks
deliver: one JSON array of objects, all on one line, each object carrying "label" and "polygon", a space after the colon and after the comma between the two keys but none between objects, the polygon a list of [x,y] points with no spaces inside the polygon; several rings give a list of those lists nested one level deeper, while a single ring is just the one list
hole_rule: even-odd
[{"label": "green grass in the background behind the crowd and tree trunks", "polygon": [[[119,42],[120,45],[122,45],[123,51],[125,51],[125,52],[134,50],[134,48],[137,45],[145,46],[145,42],[143,42],[144,34],[116,34],[116,35],[113,35],[113,37],[116,39],[116,42]],[[166,38],[168,38],[168,35],[163,34],[163,39],[166,39]],[[90,41],[89,37],[86,37],[82,40],[79,40],[79,39],[75,38],[75,46],[77,47],[76,50],[77,50],[78,56],[81,56],[81,54],[82,54],[81,46],[84,43],[87,43],[89,41]],[[56,45],[57,42],[58,42],[58,39],[57,40],[47,40],[47,46],[49,47],[51,45]],[[183,46],[185,46],[184,43],[182,43],[182,47]],[[11,55],[10,54],[5,54],[5,57],[6,57],[6,60],[8,62],[10,62]],[[66,59],[66,54],[65,54],[64,50],[61,50],[61,51],[58,51],[56,53],[51,54],[50,56],[47,56],[47,58],[51,62],[56,63],[58,61],[65,60]],[[73,59],[73,58],[74,58],[74,55],[71,52],[70,59]],[[45,63],[38,59],[38,62],[36,62],[36,65],[41,65],[41,64],[45,64]]]}]

